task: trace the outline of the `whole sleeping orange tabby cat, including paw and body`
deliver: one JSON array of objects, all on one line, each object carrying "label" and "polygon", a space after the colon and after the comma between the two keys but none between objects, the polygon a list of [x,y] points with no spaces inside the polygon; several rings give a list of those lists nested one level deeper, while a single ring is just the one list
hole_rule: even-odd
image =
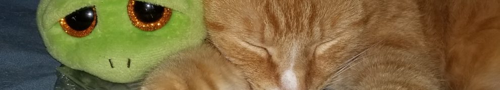
[{"label": "whole sleeping orange tabby cat, including paw and body", "polygon": [[[205,0],[209,39],[232,64],[198,48],[168,62],[177,65],[160,65],[143,88],[495,89],[498,6],[500,0]],[[195,55],[206,53],[216,57]]]}]

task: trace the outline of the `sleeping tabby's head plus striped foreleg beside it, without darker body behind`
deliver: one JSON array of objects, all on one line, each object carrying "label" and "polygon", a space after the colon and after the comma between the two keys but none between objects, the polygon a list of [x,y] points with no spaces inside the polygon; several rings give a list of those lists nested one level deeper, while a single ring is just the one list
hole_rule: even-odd
[{"label": "sleeping tabby's head plus striped foreleg beside it, without darker body behind", "polygon": [[442,89],[417,0],[205,0],[254,89]]}]

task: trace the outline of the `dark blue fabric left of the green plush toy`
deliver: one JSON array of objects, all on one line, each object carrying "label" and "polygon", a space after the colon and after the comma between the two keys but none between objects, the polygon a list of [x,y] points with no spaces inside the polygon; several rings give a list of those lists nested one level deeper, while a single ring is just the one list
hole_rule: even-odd
[{"label": "dark blue fabric left of the green plush toy", "polygon": [[0,89],[54,89],[60,63],[36,26],[38,0],[0,0]]}]

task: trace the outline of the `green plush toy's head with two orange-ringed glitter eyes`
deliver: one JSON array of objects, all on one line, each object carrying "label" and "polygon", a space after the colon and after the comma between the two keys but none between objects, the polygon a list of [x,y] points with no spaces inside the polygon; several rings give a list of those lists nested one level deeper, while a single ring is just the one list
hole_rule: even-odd
[{"label": "green plush toy's head with two orange-ringed glitter eyes", "polygon": [[120,83],[206,35],[201,0],[41,0],[37,22],[61,63]]}]

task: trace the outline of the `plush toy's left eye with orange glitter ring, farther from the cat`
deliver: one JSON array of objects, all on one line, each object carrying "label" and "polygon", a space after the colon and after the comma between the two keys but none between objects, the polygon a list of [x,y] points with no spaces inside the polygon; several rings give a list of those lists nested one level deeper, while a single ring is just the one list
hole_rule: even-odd
[{"label": "plush toy's left eye with orange glitter ring, farther from the cat", "polygon": [[94,6],[83,7],[59,20],[64,31],[71,36],[87,36],[94,29],[97,21]]}]

